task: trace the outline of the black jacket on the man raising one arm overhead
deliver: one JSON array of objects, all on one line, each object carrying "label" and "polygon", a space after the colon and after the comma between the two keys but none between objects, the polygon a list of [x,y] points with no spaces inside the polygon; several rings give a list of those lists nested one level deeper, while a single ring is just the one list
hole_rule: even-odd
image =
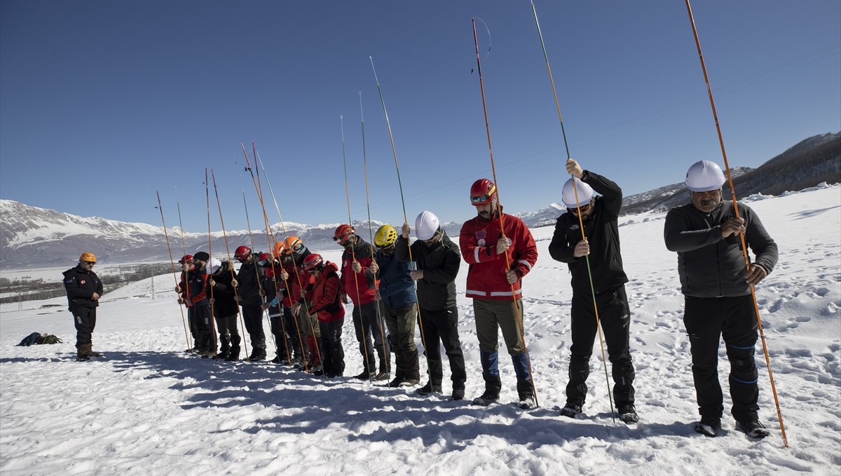
[{"label": "black jacket on the man raising one arm overhead", "polygon": [[[581,182],[590,185],[600,197],[595,198],[593,214],[584,221],[584,234],[590,242],[590,270],[593,275],[595,294],[600,296],[616,290],[628,282],[622,267],[619,246],[619,209],[622,206],[622,190],[616,183],[597,173],[584,171]],[[565,213],[555,223],[555,233],[549,243],[549,254],[555,261],[565,262],[572,273],[573,294],[592,296],[587,261],[584,257],[573,257],[575,245],[581,241],[579,217]]]}]

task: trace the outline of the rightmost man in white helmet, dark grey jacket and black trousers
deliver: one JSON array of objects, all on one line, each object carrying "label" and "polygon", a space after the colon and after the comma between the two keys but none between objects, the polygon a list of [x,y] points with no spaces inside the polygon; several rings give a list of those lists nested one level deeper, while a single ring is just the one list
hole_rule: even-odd
[{"label": "rightmost man in white helmet, dark grey jacket and black trousers", "polygon": [[[701,421],[696,431],[716,436],[724,411],[718,382],[718,346],[723,337],[730,361],[731,413],[739,430],[762,438],[759,374],[754,362],[757,318],[751,288],[777,262],[777,245],[754,210],[722,200],[727,179],[715,162],[698,161],[686,173],[690,204],[666,215],[664,239],[678,253],[680,290],[685,296],[684,325],[690,338],[692,377]],[[745,265],[742,238],[756,255]]]}]

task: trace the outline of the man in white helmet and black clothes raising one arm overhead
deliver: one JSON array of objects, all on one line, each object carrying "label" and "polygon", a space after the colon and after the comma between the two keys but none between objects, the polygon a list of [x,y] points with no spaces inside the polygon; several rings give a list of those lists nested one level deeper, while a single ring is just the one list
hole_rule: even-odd
[{"label": "man in white helmet and black clothes raising one arm overhead", "polygon": [[[567,161],[567,172],[573,176],[563,184],[563,204],[568,211],[558,218],[549,244],[553,259],[569,266],[573,287],[573,344],[569,349],[567,404],[561,415],[572,418],[584,406],[593,341],[601,325],[611,361],[616,410],[622,421],[636,423],[639,417],[634,408],[631,311],[625,292],[628,278],[622,268],[619,245],[622,190],[606,177],[583,170],[573,159]],[[596,197],[595,192],[601,196]]]}]

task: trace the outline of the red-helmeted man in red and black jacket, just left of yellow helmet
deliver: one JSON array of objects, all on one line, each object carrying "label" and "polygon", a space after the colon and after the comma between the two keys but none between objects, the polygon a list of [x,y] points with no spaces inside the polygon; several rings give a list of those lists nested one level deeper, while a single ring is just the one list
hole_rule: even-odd
[{"label": "red-helmeted man in red and black jacket, just left of yellow helmet", "polygon": [[[353,302],[353,327],[357,331],[364,366],[362,373],[354,378],[388,380],[391,354],[389,342],[385,339],[385,320],[374,299],[376,283],[373,276],[365,272],[373,262],[373,247],[362,240],[362,236],[357,235],[350,225],[339,225],[333,241],[345,248],[341,254],[341,302],[346,303],[348,298]],[[373,359],[374,349],[379,357],[379,372],[377,362]]]}]

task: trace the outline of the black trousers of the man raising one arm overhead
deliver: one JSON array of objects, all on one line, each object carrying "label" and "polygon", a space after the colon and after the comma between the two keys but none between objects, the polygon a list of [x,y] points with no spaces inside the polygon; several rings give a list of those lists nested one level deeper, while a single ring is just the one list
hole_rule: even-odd
[{"label": "black trousers of the man raising one arm overhead", "polygon": [[[629,324],[631,313],[625,287],[596,296],[599,321],[607,346],[607,358],[611,361],[613,377],[613,400],[616,406],[632,405],[634,402]],[[595,321],[593,297],[574,294],[572,304],[573,345],[569,356],[569,383],[567,384],[567,405],[584,405],[587,397],[587,377],[590,375],[590,356],[598,332]]]}]

